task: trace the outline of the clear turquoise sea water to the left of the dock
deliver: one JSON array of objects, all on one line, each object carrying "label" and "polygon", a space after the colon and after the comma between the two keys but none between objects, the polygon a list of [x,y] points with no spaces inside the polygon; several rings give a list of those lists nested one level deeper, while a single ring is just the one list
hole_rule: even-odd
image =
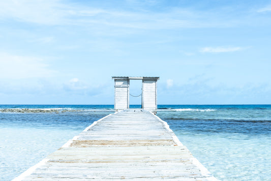
[{"label": "clear turquoise sea water to the left of the dock", "polygon": [[[3,108],[4,107],[4,108]],[[59,106],[0,106],[59,110]],[[61,106],[61,108],[71,106]],[[91,108],[89,108],[91,107]],[[98,107],[98,108],[96,108]],[[108,106],[74,106],[60,113],[0,112],[0,180],[11,180],[37,164],[94,121],[114,113]]]}]

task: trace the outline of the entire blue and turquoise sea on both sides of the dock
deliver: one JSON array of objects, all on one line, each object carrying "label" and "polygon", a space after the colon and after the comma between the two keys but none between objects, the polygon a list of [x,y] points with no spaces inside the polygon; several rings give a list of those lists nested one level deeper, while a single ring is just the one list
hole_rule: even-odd
[{"label": "entire blue and turquoise sea on both sides of the dock", "polygon": [[[271,180],[271,105],[158,108],[157,115],[218,179]],[[112,105],[0,105],[0,180],[18,176],[111,113]]]}]

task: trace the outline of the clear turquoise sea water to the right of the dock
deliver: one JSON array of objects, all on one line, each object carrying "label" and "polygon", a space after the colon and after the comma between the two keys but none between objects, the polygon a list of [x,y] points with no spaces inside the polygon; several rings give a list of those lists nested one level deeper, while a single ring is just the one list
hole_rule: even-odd
[{"label": "clear turquoise sea water to the right of the dock", "polygon": [[271,180],[269,105],[169,107],[157,115],[215,177]]}]

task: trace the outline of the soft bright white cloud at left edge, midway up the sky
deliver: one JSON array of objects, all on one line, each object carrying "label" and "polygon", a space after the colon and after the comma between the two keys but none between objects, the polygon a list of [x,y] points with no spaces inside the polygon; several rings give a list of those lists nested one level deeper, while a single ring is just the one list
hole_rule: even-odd
[{"label": "soft bright white cloud at left edge, midway up the sky", "polygon": [[25,79],[52,77],[55,70],[46,60],[38,57],[10,55],[0,52],[0,77],[2,79]]}]

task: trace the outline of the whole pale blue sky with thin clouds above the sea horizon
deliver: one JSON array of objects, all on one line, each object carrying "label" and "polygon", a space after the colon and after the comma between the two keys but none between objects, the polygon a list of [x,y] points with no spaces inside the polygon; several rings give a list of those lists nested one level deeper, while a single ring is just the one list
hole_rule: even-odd
[{"label": "whole pale blue sky with thin clouds above the sea horizon", "polygon": [[158,104],[271,104],[271,1],[0,7],[0,104],[113,104],[111,76],[160,76]]}]

